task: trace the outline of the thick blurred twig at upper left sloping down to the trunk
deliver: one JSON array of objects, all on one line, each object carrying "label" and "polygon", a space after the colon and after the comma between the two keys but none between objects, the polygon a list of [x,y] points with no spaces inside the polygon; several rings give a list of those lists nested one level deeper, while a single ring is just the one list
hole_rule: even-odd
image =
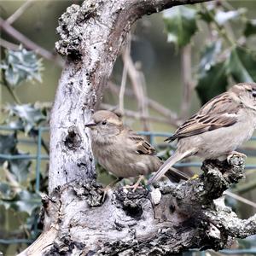
[{"label": "thick blurred twig at upper left sloping down to the trunk", "polygon": [[26,38],[22,33],[17,31],[13,26],[10,26],[8,22],[0,17],[0,27],[3,31],[7,32],[10,36],[18,40],[26,48],[34,50],[38,55],[43,56],[45,59],[55,61],[61,67],[64,67],[64,61],[62,61],[57,55],[52,54],[47,49],[42,48],[38,44],[35,44],[29,38]]}]

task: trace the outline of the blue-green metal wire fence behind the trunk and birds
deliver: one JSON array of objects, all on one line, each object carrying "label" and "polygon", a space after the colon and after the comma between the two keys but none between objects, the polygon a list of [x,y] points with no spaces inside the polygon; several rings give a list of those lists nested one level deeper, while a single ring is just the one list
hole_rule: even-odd
[{"label": "blue-green metal wire fence behind the trunk and birds", "polygon": [[[20,130],[18,127],[10,127],[6,125],[0,125],[0,131],[6,132],[14,132]],[[41,172],[41,163],[42,161],[49,160],[49,154],[42,154],[42,137],[44,133],[49,133],[49,127],[38,127],[38,137],[36,142],[37,147],[37,154],[0,154],[0,160],[20,160],[20,159],[26,159],[26,160],[34,160],[36,167],[35,167],[35,176],[36,176],[36,184],[35,189],[36,192],[40,192],[40,172]],[[156,137],[171,137],[172,133],[167,132],[151,132],[151,131],[138,131],[137,132],[140,135],[146,136],[149,138],[149,142],[152,145],[155,145],[155,138]],[[252,137],[250,141],[256,141],[256,137]],[[35,144],[35,142],[32,139],[20,139],[18,140],[20,144]],[[246,152],[247,153],[247,152]],[[253,155],[256,156],[256,155]],[[185,163],[177,163],[175,165],[176,167],[200,167],[201,162],[185,162]],[[256,165],[247,165],[245,167],[246,170],[248,169],[255,169]],[[15,243],[32,243],[32,240],[28,239],[1,239],[0,238],[0,244],[15,244]],[[256,244],[256,238],[254,243]],[[220,253],[229,254],[229,255],[235,255],[235,254],[250,254],[250,255],[256,255],[256,247],[248,248],[248,249],[236,249],[236,250],[222,250]],[[183,253],[183,256],[189,256],[189,255],[200,255],[204,256],[207,255],[207,252],[199,252],[196,250],[190,250],[187,253]]]}]

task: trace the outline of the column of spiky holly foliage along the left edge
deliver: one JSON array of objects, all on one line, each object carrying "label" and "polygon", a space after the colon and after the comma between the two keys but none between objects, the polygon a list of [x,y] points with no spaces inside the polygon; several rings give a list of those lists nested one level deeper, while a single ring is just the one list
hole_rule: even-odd
[{"label": "column of spiky holly foliage along the left edge", "polygon": [[[42,64],[34,52],[21,46],[17,50],[6,50],[5,53],[1,65],[1,85],[9,88],[9,93],[17,104],[9,104],[3,108],[5,119],[2,125],[9,125],[15,132],[0,134],[0,154],[7,157],[0,158],[3,171],[3,177],[0,176],[0,206],[14,215],[23,214],[24,219],[20,227],[26,225],[26,232],[18,227],[16,233],[21,232],[21,236],[29,241],[38,236],[41,197],[35,189],[32,160],[26,157],[29,153],[20,152],[17,133],[25,133],[27,137],[36,138],[38,125],[46,125],[48,114],[46,108],[40,108],[38,104],[18,104],[20,99],[15,94],[15,87],[25,84],[27,80],[40,82]],[[9,159],[12,155],[19,158]],[[45,191],[44,186],[41,187],[41,191]]]}]

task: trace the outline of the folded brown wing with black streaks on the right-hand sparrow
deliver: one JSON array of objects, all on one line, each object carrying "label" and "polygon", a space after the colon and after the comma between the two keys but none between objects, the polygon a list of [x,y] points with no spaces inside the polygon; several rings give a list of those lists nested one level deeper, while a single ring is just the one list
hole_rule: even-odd
[{"label": "folded brown wing with black streaks on the right-hand sparrow", "polygon": [[241,104],[225,92],[207,102],[198,113],[183,123],[166,141],[172,142],[177,138],[190,137],[235,125],[238,120],[237,113],[241,108]]}]

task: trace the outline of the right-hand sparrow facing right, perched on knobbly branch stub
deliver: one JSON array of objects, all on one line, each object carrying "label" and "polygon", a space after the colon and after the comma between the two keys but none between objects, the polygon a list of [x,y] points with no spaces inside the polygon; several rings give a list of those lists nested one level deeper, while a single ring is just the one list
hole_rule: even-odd
[{"label": "right-hand sparrow facing right, perched on knobbly branch stub", "polygon": [[[256,128],[256,84],[236,84],[207,102],[198,113],[166,139],[177,139],[177,150],[148,180],[154,183],[177,161],[191,155],[203,159],[226,158],[253,135]],[[245,156],[245,154],[242,154]]]}]

